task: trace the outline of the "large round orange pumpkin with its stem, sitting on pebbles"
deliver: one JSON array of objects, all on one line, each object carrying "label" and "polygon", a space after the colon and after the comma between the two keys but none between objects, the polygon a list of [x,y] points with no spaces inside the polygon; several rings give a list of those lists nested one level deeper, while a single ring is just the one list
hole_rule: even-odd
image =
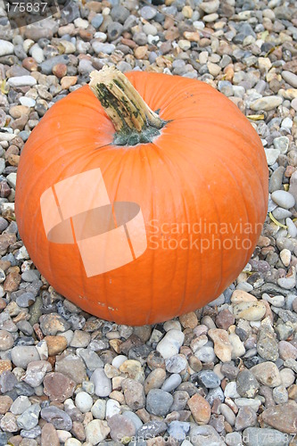
[{"label": "large round orange pumpkin with its stem, sitting on pebbles", "polygon": [[132,326],[217,298],[250,259],[267,208],[265,153],[234,103],[195,79],[113,68],[46,112],[15,197],[49,284]]}]

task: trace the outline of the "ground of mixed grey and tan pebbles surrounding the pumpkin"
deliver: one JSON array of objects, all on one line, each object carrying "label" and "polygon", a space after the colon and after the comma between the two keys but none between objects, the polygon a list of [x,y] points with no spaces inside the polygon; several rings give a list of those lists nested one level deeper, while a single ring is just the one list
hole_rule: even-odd
[{"label": "ground of mixed grey and tan pebbles surrounding the pumpkin", "polygon": [[[296,4],[90,1],[22,32],[0,8],[0,39],[0,445],[296,444]],[[209,306],[157,326],[55,293],[13,220],[30,131],[105,64],[202,79],[252,115],[267,154],[252,260]]]}]

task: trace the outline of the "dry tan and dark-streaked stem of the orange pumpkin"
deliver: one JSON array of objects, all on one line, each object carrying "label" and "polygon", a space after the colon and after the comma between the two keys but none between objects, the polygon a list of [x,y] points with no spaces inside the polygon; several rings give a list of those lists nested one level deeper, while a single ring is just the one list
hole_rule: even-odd
[{"label": "dry tan and dark-streaked stem of the orange pumpkin", "polygon": [[144,103],[136,88],[115,67],[92,71],[89,87],[95,93],[104,111],[116,129],[113,143],[136,145],[149,143],[166,124],[158,114]]}]

